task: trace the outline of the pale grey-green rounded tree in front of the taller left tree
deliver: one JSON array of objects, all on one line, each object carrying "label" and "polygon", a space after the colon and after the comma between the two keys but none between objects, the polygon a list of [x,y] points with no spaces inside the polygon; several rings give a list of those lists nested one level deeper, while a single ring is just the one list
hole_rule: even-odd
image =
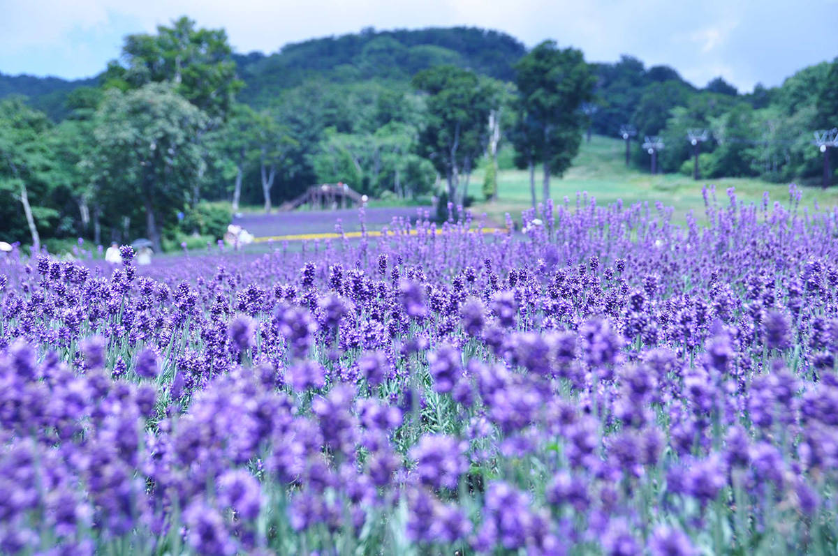
[{"label": "pale grey-green rounded tree in front of the taller left tree", "polygon": [[142,206],[155,250],[162,250],[163,225],[183,209],[203,164],[194,136],[206,122],[173,85],[157,83],[108,91],[96,115],[101,179],[123,206]]}]

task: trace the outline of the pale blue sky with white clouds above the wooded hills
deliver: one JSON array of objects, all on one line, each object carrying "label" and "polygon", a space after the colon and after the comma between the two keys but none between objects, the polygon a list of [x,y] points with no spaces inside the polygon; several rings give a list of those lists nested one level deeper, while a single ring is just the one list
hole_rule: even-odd
[{"label": "pale blue sky with white clouds above the wooded hills", "polygon": [[468,25],[666,64],[694,85],[716,76],[742,92],[780,85],[838,57],[838,0],[0,0],[0,72],[75,79],[96,75],[131,33],[187,15],[226,29],[241,53],[361,28]]}]

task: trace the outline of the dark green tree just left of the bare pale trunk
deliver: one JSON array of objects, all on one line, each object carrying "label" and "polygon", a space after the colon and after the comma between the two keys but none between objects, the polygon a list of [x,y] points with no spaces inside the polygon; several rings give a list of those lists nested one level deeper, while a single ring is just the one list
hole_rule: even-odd
[{"label": "dark green tree just left of the bare pale trunk", "polygon": [[446,177],[448,199],[462,204],[459,174],[470,172],[484,152],[489,95],[473,71],[453,65],[425,69],[414,76],[413,85],[427,95],[418,150]]}]

